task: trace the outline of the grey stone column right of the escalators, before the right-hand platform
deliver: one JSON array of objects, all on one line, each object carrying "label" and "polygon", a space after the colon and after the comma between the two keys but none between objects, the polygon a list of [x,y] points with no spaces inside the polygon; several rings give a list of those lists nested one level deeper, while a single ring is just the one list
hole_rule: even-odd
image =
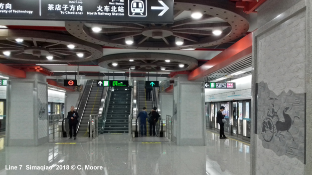
[{"label": "grey stone column right of the escalators, before the right-hand platform", "polygon": [[206,145],[203,80],[179,75],[174,85],[173,137],[177,145]]}]

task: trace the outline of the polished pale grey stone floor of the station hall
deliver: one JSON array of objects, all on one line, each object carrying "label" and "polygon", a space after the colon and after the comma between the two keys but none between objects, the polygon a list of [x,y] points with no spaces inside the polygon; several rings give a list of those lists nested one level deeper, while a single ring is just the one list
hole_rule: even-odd
[{"label": "polished pale grey stone floor of the station hall", "polygon": [[[76,143],[50,142],[37,147],[0,145],[0,175],[249,174],[249,145],[234,139],[220,140],[219,135],[210,131],[207,146],[132,139],[127,134],[102,134],[87,142],[78,142],[78,137]],[[29,169],[35,166],[52,169]],[[94,166],[102,169],[86,169]]]}]

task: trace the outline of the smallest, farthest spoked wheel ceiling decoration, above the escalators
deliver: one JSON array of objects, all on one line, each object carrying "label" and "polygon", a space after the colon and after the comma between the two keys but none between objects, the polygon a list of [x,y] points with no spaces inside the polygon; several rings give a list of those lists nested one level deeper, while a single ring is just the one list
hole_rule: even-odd
[{"label": "smallest, farthest spoked wheel ceiling decoration, above the escalators", "polygon": [[103,56],[99,66],[113,69],[138,72],[149,71],[183,71],[197,67],[197,59],[169,53],[120,53]]}]

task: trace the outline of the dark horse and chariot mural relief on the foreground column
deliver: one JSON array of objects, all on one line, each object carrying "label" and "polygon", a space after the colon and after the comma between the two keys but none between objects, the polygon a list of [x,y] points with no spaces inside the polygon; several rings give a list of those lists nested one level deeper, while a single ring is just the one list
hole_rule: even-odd
[{"label": "dark horse and chariot mural relief on the foreground column", "polygon": [[258,83],[257,134],[265,148],[305,163],[305,93],[276,95]]}]

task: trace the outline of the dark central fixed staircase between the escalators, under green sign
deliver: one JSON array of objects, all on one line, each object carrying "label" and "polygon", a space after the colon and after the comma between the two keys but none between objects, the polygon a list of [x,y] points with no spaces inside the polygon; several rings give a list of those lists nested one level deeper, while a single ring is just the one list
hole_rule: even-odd
[{"label": "dark central fixed staircase between the escalators, under green sign", "polygon": [[104,133],[128,133],[131,88],[114,87],[111,92]]}]

